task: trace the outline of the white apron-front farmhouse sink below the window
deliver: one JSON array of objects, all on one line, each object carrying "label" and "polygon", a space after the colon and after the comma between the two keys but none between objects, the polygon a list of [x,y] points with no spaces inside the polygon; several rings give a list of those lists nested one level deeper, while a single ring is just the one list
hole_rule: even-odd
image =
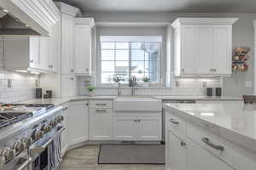
[{"label": "white apron-front farmhouse sink below the window", "polygon": [[161,111],[160,99],[147,97],[118,97],[113,100],[113,111]]}]

